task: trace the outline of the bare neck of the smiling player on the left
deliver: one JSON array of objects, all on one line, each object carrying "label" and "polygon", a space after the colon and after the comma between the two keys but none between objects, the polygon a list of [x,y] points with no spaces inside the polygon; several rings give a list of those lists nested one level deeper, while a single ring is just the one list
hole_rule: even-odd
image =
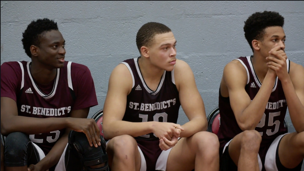
[{"label": "bare neck of the smiling player on the left", "polygon": [[39,84],[47,85],[55,79],[57,69],[48,69],[36,64],[35,62],[32,62],[30,64],[30,72],[35,81],[37,81]]}]

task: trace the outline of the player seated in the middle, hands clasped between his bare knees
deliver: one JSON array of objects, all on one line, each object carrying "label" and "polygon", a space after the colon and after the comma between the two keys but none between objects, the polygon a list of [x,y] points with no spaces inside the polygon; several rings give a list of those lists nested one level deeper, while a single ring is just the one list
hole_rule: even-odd
[{"label": "player seated in the middle, hands clasped between his bare knees", "polygon": [[103,130],[111,169],[218,170],[218,138],[206,132],[202,97],[189,65],[176,59],[171,29],[148,22],[136,44],[140,57],[121,62],[109,79]]}]

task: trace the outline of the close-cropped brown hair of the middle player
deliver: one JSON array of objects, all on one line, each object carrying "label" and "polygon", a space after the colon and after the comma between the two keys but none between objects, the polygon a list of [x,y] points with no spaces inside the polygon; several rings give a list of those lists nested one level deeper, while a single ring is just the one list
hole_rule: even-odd
[{"label": "close-cropped brown hair of the middle player", "polygon": [[157,34],[171,32],[171,29],[158,22],[148,22],[140,27],[136,35],[136,45],[140,52],[142,46],[151,46],[154,36]]}]

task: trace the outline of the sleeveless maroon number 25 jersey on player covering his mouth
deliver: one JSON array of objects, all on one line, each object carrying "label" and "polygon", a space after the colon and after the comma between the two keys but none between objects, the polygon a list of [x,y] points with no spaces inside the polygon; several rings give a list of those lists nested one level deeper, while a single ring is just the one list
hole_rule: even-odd
[{"label": "sleeveless maroon number 25 jersey on player covering his mouth", "polygon": [[[254,71],[252,64],[252,57],[240,57],[234,60],[239,60],[247,71],[247,84],[245,90],[250,99],[253,100],[261,87],[261,82]],[[287,70],[289,72],[290,62],[287,59]],[[287,110],[286,98],[282,88],[281,81],[278,77],[275,79],[275,85],[272,89],[268,103],[266,105],[263,117],[260,123],[255,128],[256,131],[262,135],[261,148],[269,145],[278,135],[287,132],[284,126],[284,118]],[[220,147],[223,149],[224,145],[234,136],[241,133],[242,130],[237,125],[237,121],[230,107],[229,97],[222,97],[219,91],[219,111],[221,123],[219,127],[218,137]],[[254,115],[254,113],[252,113]]]}]

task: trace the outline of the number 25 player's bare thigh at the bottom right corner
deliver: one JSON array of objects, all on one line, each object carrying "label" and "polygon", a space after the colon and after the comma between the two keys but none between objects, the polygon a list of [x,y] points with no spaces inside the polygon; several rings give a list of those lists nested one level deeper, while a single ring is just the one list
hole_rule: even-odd
[{"label": "number 25 player's bare thigh at the bottom right corner", "polygon": [[284,135],[278,145],[278,157],[286,168],[298,166],[304,158],[304,132]]}]

